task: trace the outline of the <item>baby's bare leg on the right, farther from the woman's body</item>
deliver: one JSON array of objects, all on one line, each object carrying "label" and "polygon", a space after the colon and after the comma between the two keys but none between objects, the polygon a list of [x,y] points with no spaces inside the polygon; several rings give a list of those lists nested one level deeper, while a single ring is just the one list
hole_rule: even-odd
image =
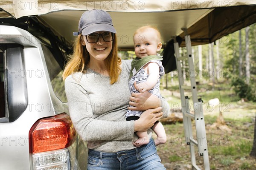
[{"label": "baby's bare leg on the right, farther from the woman's body", "polygon": [[157,134],[157,139],[154,140],[156,145],[166,143],[166,133],[162,123],[157,122],[151,129]]}]

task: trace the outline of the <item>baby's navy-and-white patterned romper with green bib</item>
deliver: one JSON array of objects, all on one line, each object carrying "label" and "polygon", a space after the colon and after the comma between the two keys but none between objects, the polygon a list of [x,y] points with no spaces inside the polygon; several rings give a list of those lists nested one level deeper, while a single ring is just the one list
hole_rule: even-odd
[{"label": "baby's navy-and-white patterned romper with green bib", "polygon": [[[151,57],[151,59],[153,59],[153,60],[149,60],[148,57]],[[137,61],[135,61],[136,62],[135,65],[136,66],[139,65],[139,67],[137,67],[137,68],[133,64],[134,60],[132,61],[131,74],[130,74],[130,79],[129,79],[129,83],[128,83],[130,92],[131,93],[140,93],[139,91],[137,91],[134,88],[134,82],[136,81],[137,84],[141,83],[141,82],[145,82],[148,79],[149,75],[145,72],[143,66],[146,65],[148,62],[156,62],[160,68],[159,78],[158,78],[157,84],[154,86],[154,88],[152,88],[148,92],[150,92],[151,94],[154,94],[158,98],[161,98],[162,96],[160,94],[160,79],[164,75],[164,68],[163,68],[162,62],[160,61],[160,60],[162,60],[162,58],[159,56],[148,56],[148,57],[145,57],[142,59],[139,59],[139,58],[134,59],[134,60],[137,60]],[[130,107],[133,107],[133,106],[130,105]],[[128,110],[126,113],[126,120],[137,120],[140,118],[140,115],[142,113],[143,113],[143,111]]]}]

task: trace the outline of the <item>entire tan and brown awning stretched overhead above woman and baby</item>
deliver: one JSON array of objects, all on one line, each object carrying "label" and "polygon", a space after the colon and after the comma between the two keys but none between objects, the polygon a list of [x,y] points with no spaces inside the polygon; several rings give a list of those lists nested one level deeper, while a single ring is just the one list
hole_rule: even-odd
[{"label": "entire tan and brown awning stretched overhead above woman and baby", "polygon": [[255,0],[1,0],[0,8],[0,18],[36,16],[70,44],[84,11],[109,11],[123,50],[134,48],[134,31],[148,24],[159,28],[163,43],[177,35],[184,39],[181,28],[188,28],[192,45],[198,45],[256,22]]}]

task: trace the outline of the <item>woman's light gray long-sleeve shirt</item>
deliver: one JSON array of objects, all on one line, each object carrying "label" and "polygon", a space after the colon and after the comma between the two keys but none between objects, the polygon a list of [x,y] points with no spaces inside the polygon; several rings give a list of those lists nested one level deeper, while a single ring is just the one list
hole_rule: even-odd
[{"label": "woman's light gray long-sleeve shirt", "polygon": [[[118,152],[135,148],[134,121],[126,121],[125,114],[131,96],[128,79],[131,60],[122,60],[119,81],[110,84],[109,77],[91,69],[74,73],[65,79],[70,117],[87,147],[102,152]],[[163,117],[169,114],[169,104],[162,98]],[[148,135],[152,131],[148,130]]]}]

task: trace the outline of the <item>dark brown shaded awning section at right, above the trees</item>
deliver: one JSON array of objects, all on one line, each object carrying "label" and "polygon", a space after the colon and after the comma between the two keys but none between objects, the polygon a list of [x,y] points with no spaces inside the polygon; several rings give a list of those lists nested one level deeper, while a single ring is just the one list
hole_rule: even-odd
[{"label": "dark brown shaded awning section at right, above the trees", "polygon": [[[207,44],[220,38],[220,43],[229,43],[230,37],[226,35],[253,23],[256,23],[256,6],[215,8],[189,27],[187,32],[191,36],[192,45]],[[184,39],[184,33],[180,37]],[[185,46],[185,42],[180,46]]]}]

